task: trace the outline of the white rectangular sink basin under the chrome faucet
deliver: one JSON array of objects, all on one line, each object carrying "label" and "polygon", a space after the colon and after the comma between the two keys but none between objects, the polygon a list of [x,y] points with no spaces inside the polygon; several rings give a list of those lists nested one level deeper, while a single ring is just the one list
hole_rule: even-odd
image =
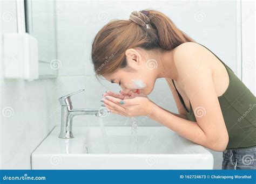
[{"label": "white rectangular sink basin under the chrome faucet", "polygon": [[213,169],[211,152],[165,126],[131,130],[106,126],[107,152],[99,126],[73,126],[72,139],[55,126],[31,154],[32,169]]}]

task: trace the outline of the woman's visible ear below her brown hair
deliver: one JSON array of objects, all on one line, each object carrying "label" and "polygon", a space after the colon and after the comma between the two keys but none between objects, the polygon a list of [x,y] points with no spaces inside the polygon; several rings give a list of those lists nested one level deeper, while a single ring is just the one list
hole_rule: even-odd
[{"label": "woman's visible ear below her brown hair", "polygon": [[136,51],[136,49],[129,48],[125,51],[126,60],[129,66],[137,68],[138,65],[142,63],[141,55]]}]

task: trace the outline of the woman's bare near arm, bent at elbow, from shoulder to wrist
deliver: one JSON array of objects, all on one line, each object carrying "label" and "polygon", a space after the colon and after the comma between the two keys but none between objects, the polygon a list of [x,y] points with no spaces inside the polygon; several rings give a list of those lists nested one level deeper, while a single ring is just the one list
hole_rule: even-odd
[{"label": "woman's bare near arm, bent at elbow, from shoulder to wrist", "polygon": [[209,52],[199,44],[184,43],[174,54],[179,81],[184,85],[197,122],[174,116],[156,104],[149,117],[194,143],[224,151],[228,133],[212,79],[210,63],[216,61]]}]

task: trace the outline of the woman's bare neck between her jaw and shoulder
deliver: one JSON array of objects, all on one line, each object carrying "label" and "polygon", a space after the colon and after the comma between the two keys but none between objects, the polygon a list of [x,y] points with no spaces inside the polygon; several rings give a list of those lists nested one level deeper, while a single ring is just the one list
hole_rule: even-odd
[{"label": "woman's bare neck between her jaw and shoulder", "polygon": [[172,51],[166,51],[164,53],[161,53],[160,55],[160,61],[158,65],[158,75],[157,78],[169,78],[177,81],[178,78],[178,72],[177,68],[174,64],[174,59],[173,59],[173,52]]}]

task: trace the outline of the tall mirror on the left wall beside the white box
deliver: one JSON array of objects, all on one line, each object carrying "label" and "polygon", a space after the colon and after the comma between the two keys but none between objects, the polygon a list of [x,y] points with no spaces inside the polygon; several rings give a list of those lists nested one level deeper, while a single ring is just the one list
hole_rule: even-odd
[{"label": "tall mirror on the left wall beside the white box", "polygon": [[38,41],[39,79],[57,77],[55,1],[24,0],[26,32]]}]

